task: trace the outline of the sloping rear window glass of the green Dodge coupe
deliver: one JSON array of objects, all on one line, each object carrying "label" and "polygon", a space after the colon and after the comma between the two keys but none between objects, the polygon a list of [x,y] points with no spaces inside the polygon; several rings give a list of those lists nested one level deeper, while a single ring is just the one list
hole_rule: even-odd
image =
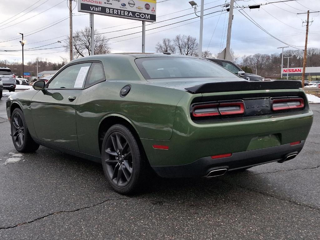
[{"label": "sloping rear window glass of the green Dodge coupe", "polygon": [[209,60],[185,57],[152,57],[135,60],[145,79],[229,78],[238,76]]}]

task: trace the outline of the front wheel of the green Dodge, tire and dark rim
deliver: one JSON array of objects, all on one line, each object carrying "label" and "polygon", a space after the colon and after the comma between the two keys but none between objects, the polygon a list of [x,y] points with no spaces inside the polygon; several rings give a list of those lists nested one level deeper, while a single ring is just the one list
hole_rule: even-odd
[{"label": "front wheel of the green Dodge, tire and dark rim", "polygon": [[32,139],[20,108],[13,110],[10,123],[12,142],[17,151],[21,153],[35,152],[39,148],[39,144]]}]

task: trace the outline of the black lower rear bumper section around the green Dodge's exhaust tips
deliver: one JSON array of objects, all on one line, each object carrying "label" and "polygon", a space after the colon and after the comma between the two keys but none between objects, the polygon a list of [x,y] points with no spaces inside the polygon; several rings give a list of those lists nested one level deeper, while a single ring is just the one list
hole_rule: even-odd
[{"label": "black lower rear bumper section around the green Dodge's exhaust tips", "polygon": [[218,169],[228,171],[256,165],[284,161],[292,154],[298,154],[303,148],[305,141],[291,146],[290,144],[279,145],[269,148],[261,148],[244,152],[233,153],[230,157],[212,159],[211,156],[202,157],[193,163],[175,166],[152,166],[153,170],[161,177],[183,178],[204,177],[209,172]]}]

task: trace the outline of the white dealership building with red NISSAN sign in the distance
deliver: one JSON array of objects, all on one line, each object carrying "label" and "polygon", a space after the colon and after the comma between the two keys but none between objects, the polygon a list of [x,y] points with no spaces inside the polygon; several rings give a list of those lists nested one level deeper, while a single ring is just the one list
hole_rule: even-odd
[{"label": "white dealership building with red NISSAN sign in the distance", "polygon": [[[282,69],[282,74],[283,76],[288,76],[291,79],[297,79],[297,80],[301,80],[302,79],[302,68],[283,68]],[[306,80],[309,81],[320,81],[320,67],[308,67],[306,68]]]}]

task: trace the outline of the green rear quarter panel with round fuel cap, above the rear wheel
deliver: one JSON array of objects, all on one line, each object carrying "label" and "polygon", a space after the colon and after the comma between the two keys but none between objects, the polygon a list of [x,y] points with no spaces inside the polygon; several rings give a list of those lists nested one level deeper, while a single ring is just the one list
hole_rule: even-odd
[{"label": "green rear quarter panel with round fuel cap, above the rear wheel", "polygon": [[[121,89],[131,84],[124,98]],[[80,151],[100,156],[98,131],[109,116],[119,116],[135,128],[140,138],[169,140],[176,105],[184,91],[139,82],[102,82],[84,89],[76,103],[76,124]]]}]

